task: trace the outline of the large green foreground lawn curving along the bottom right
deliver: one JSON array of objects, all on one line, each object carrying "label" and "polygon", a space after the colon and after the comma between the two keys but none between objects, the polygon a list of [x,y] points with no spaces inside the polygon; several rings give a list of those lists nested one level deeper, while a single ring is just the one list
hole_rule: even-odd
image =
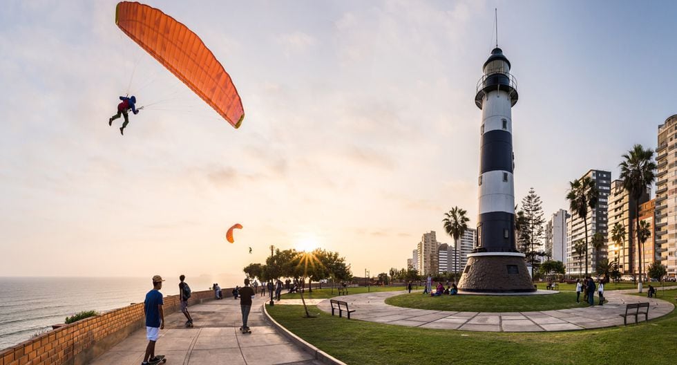
[{"label": "large green foreground lawn curving along the bottom right", "polygon": [[674,364],[677,315],[649,324],[557,333],[432,330],[267,308],[280,324],[347,364]]}]

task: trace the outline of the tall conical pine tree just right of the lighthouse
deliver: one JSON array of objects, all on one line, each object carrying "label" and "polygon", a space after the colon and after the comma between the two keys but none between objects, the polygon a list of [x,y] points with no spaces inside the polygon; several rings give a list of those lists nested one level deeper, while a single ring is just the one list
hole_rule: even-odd
[{"label": "tall conical pine tree just right of the lighthouse", "polygon": [[526,248],[523,253],[526,254],[526,259],[531,262],[531,277],[533,277],[536,256],[544,255],[542,250],[536,251],[536,248],[540,248],[541,242],[545,237],[543,227],[545,219],[543,218],[543,208],[541,205],[541,198],[532,187],[522,199],[525,227],[519,233],[520,238],[522,238],[520,241],[524,243],[524,248]]}]

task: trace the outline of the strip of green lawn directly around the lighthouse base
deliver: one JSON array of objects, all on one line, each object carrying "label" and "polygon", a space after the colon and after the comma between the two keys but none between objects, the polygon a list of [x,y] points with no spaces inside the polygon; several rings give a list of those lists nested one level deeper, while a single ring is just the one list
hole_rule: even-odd
[{"label": "strip of green lawn directly around the lighthouse base", "polygon": [[401,294],[385,299],[391,306],[430,310],[455,310],[459,312],[529,312],[587,307],[576,303],[575,292],[547,295],[441,295],[430,297],[420,292]]}]

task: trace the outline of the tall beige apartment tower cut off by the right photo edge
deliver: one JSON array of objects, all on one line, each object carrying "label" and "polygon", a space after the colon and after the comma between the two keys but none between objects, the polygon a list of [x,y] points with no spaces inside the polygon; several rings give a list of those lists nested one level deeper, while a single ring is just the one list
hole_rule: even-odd
[{"label": "tall beige apartment tower cut off by the right photo edge", "polygon": [[[658,126],[656,252],[669,277],[677,276],[677,114]],[[643,272],[643,270],[642,270]]]}]

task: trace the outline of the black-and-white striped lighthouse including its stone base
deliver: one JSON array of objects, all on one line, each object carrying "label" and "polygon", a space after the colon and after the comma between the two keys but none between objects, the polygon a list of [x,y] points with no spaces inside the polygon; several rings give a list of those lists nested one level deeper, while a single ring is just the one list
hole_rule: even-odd
[{"label": "black-and-white striped lighthouse including its stone base", "polygon": [[475,104],[480,127],[477,242],[461,275],[468,292],[533,292],[524,254],[515,246],[515,164],[512,108],[517,82],[501,48],[482,67]]}]

